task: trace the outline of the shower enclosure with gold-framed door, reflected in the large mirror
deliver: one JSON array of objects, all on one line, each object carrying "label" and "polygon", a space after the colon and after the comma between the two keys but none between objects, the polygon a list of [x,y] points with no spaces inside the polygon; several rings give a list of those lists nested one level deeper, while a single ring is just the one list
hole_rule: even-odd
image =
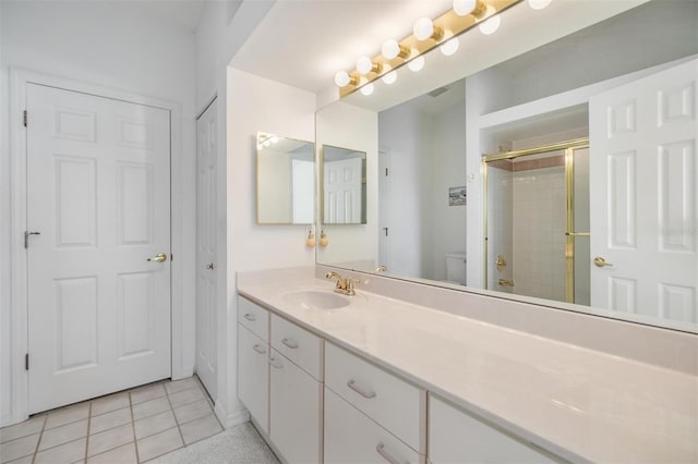
[{"label": "shower enclosure with gold-framed door, reflected in the large mirror", "polygon": [[485,288],[589,305],[589,139],[483,157]]}]

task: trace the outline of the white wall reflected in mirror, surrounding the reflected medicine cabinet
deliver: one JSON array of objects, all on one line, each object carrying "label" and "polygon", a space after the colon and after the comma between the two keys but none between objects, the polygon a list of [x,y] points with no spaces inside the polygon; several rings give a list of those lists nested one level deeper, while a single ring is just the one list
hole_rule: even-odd
[{"label": "white wall reflected in mirror, surrounding the reflected medicine cabinet", "polygon": [[317,111],[316,124],[317,150],[330,145],[366,154],[366,223],[325,225],[329,245],[317,248],[317,261],[373,271],[378,256],[377,113],[336,102]]}]

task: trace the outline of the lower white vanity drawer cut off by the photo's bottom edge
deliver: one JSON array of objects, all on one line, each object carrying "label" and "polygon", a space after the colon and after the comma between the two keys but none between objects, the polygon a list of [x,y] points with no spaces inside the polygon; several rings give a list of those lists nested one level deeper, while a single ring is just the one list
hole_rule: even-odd
[{"label": "lower white vanity drawer cut off by the photo's bottom edge", "polygon": [[325,463],[424,462],[417,451],[325,389]]}]

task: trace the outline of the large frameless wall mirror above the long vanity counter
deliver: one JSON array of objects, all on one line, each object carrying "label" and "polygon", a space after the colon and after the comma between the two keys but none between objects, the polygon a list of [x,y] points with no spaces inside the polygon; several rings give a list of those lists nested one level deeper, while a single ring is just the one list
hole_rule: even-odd
[{"label": "large frameless wall mirror above the long vanity counter", "polygon": [[[554,1],[535,21],[582,3]],[[432,76],[416,95],[400,69],[389,88],[320,110],[318,139],[340,108],[375,114],[377,192],[361,262],[332,249],[318,262],[698,331],[698,2],[613,5],[514,56],[517,4],[486,59],[468,46],[478,30],[453,57],[429,53],[422,73],[469,70],[457,81]]]}]

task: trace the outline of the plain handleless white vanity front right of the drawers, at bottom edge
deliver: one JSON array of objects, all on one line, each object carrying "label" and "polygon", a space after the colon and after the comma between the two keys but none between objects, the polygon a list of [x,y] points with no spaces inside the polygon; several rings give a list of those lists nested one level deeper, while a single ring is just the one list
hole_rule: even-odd
[{"label": "plain handleless white vanity front right of the drawers, at bottom edge", "polygon": [[431,464],[556,462],[542,451],[509,437],[431,393],[428,460]]}]

